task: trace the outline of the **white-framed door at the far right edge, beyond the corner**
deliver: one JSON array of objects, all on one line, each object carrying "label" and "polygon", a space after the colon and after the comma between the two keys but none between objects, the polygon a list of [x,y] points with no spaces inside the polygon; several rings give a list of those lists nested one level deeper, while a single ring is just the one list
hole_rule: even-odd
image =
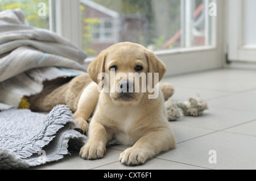
[{"label": "white-framed door at the far right edge, beyond the corner", "polygon": [[256,1],[232,0],[228,7],[229,61],[256,62]]}]

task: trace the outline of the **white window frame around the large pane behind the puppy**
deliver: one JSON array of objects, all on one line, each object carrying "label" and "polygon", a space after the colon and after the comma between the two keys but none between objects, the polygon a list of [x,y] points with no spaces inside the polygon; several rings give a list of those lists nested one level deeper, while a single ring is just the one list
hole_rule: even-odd
[{"label": "white window frame around the large pane behind the puppy", "polygon": [[[49,0],[55,2],[56,32],[67,37],[80,47],[80,1]],[[186,0],[184,0],[186,1]],[[225,64],[225,1],[216,0],[217,16],[214,16],[216,31],[213,44],[204,47],[160,50],[155,54],[166,64],[166,76],[192,73],[209,69],[222,68]],[[51,5],[51,3],[50,3]],[[84,66],[88,66],[94,58],[86,58]]]}]

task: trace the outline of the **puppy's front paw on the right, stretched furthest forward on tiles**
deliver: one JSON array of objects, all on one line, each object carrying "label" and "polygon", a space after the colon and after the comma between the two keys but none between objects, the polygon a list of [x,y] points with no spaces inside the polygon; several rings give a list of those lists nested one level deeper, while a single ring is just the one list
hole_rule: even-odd
[{"label": "puppy's front paw on the right, stretched furthest forward on tiles", "polygon": [[148,159],[145,151],[138,148],[128,148],[120,154],[119,161],[124,165],[141,165]]}]

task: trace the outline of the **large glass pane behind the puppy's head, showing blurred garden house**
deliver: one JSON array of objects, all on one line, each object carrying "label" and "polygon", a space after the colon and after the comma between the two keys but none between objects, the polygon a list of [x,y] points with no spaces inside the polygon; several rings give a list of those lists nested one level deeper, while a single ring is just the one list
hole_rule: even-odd
[{"label": "large glass pane behind the puppy's head, showing blurred garden house", "polygon": [[[212,45],[210,0],[80,0],[82,49],[130,41],[152,50]],[[159,3],[160,2],[160,3]],[[205,9],[205,7],[207,9]],[[95,30],[98,25],[98,30]],[[99,33],[95,38],[94,31]]]}]

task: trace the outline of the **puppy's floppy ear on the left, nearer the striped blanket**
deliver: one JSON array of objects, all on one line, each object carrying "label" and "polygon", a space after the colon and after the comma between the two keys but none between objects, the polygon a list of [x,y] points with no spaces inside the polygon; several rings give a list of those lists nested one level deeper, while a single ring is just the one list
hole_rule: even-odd
[{"label": "puppy's floppy ear on the left, nearer the striped blanket", "polygon": [[92,63],[88,66],[88,74],[90,78],[96,82],[100,83],[101,79],[98,79],[98,75],[100,73],[104,73],[105,60],[108,57],[108,51],[103,50],[100,54],[98,54],[97,58],[93,60]]}]

